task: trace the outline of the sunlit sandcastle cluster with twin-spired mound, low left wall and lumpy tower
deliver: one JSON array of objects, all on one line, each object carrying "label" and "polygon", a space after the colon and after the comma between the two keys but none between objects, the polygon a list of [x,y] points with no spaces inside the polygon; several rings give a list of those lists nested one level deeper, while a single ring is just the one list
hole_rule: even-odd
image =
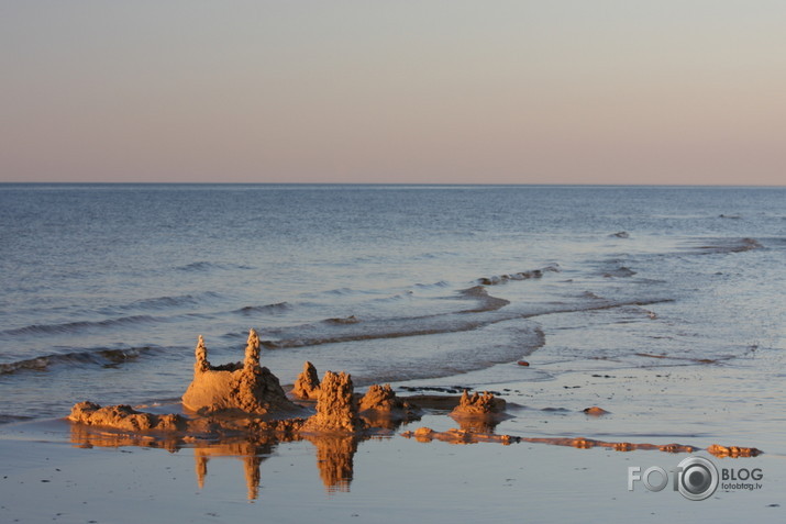
[{"label": "sunlit sandcastle cluster with twin-spired mound, low left wall and lumpy tower", "polygon": [[[190,416],[156,415],[135,411],[129,405],[102,408],[92,402],[80,402],[74,405],[68,419],[86,425],[136,432],[230,431],[292,436],[301,432],[352,435],[368,428],[358,415],[348,374],[326,371],[320,381],[313,365],[306,363],[296,386],[296,397],[299,392],[299,397],[317,399],[315,413],[312,408],[289,400],[278,378],[259,365],[259,337],[254,330],[248,332],[245,359],[221,366],[210,364],[200,335],[195,349],[193,379],[182,395],[182,405]],[[389,386],[380,391],[387,391],[384,394],[386,402],[380,404],[379,395],[372,394],[372,400],[366,403],[379,410],[403,405]]]}]

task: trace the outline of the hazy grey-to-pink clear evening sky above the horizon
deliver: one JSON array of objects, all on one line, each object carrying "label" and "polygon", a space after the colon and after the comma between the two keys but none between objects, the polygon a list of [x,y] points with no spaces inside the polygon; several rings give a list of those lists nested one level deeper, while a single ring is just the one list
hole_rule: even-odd
[{"label": "hazy grey-to-pink clear evening sky above the horizon", "polygon": [[786,182],[781,0],[0,0],[0,182]]}]

